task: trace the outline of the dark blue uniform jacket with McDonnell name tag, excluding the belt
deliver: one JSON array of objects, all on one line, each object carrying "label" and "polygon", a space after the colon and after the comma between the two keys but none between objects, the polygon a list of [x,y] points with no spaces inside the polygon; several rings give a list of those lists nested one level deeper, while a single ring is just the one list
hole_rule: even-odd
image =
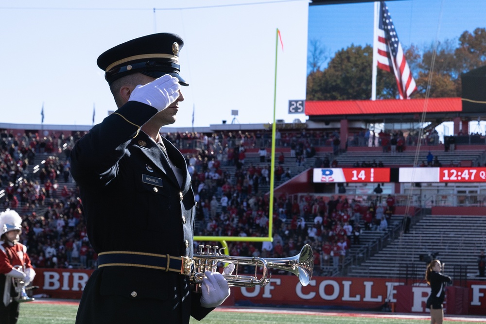
[{"label": "dark blue uniform jacket with McDonnell name tag, excluding the belt", "polygon": [[[194,193],[183,155],[165,138],[182,186],[160,146],[139,130],[157,113],[127,102],[83,136],[71,151],[87,236],[99,254],[134,251],[193,254]],[[178,273],[114,266],[96,270],[83,291],[76,323],[189,323],[212,308],[199,303],[189,278]]]}]

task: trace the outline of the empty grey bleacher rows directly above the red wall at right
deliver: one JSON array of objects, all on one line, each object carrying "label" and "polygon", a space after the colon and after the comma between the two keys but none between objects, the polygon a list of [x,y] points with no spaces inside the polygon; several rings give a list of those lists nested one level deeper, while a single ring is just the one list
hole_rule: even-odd
[{"label": "empty grey bleacher rows directly above the red wall at right", "polygon": [[[472,230],[474,229],[474,230]],[[420,256],[437,253],[448,269],[467,267],[469,275],[477,274],[476,259],[486,248],[486,218],[481,216],[428,215],[379,253],[361,265],[348,269],[349,276],[398,277],[405,265],[425,269]]]}]

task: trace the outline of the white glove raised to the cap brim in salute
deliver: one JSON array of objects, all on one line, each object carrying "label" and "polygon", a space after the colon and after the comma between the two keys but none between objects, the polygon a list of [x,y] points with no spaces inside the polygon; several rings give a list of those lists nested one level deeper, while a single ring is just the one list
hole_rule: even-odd
[{"label": "white glove raised to the cap brim in salute", "polygon": [[180,87],[179,79],[165,74],[146,85],[137,85],[128,101],[142,102],[161,111],[179,97]]}]

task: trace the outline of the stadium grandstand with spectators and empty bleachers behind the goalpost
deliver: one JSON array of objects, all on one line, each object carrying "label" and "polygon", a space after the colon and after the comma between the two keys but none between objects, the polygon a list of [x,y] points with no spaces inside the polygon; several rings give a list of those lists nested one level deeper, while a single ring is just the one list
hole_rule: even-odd
[{"label": "stadium grandstand with spectators and empty bleachers behind the goalpost", "polygon": [[[278,121],[273,240],[264,242],[245,238],[270,235],[272,125],[162,129],[187,157],[197,191],[195,235],[239,237],[228,242],[231,256],[281,258],[310,244],[314,276],[420,281],[424,260],[440,255],[461,282],[484,280],[476,260],[486,248],[486,139],[471,133],[466,122],[480,116],[462,116],[458,98],[429,99],[431,120],[420,124],[416,115],[423,104],[307,102],[306,122]],[[449,120],[455,135],[439,137],[436,126]],[[380,130],[371,127],[379,121]],[[88,126],[0,124],[1,210],[12,208],[23,217],[21,240],[36,268],[97,266],[69,174],[70,149],[88,131]],[[340,180],[339,170],[356,173]],[[449,178],[463,170],[464,180],[407,178],[402,170],[441,170]],[[473,172],[482,176],[472,181]],[[390,262],[397,267],[390,269]],[[251,273],[246,268],[241,272]]]}]

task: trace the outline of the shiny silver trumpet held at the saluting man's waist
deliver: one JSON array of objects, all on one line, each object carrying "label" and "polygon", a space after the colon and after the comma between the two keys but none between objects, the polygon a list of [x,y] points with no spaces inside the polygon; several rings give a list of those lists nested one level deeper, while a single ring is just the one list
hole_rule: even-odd
[{"label": "shiny silver trumpet held at the saluting man's waist", "polygon": [[[252,256],[226,256],[217,245],[199,245],[198,251],[192,257],[194,261],[194,271],[191,280],[200,285],[204,278],[204,272],[215,272],[218,262],[233,263],[236,273],[223,273],[223,276],[230,287],[263,287],[270,282],[270,273],[268,268],[288,271],[294,273],[299,278],[302,286],[307,286],[311,281],[312,271],[314,269],[314,256],[312,248],[306,244],[296,256],[286,258],[261,258]],[[248,265],[255,267],[255,275],[238,274],[239,265]],[[262,268],[261,277],[257,276],[257,268]]]}]

